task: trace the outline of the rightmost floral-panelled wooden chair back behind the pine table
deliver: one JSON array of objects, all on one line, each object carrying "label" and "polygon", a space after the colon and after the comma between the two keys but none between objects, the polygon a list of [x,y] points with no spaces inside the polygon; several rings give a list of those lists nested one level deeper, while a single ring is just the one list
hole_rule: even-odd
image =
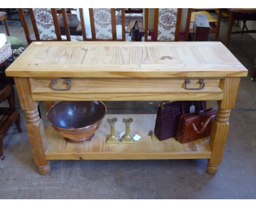
[{"label": "rightmost floral-panelled wooden chair back behind the pine table", "polygon": [[[153,41],[178,41],[182,9],[162,8],[154,11]],[[148,41],[148,9],[145,9],[144,39]]]}]

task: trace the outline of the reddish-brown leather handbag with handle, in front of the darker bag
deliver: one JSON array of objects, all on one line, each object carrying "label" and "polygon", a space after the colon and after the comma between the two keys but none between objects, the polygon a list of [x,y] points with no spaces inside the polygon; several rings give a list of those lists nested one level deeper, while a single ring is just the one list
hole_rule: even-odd
[{"label": "reddish-brown leather handbag with handle, in front of the darker bag", "polygon": [[217,111],[213,111],[212,108],[182,115],[175,138],[181,143],[188,143],[210,136],[212,120],[216,115]]}]

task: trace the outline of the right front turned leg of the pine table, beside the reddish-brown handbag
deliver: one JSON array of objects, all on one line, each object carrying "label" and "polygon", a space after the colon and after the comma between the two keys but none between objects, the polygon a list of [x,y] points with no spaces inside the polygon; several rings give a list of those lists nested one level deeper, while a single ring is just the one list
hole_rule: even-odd
[{"label": "right front turned leg of the pine table, beside the reddish-brown handbag", "polygon": [[236,94],[240,83],[239,77],[224,78],[220,82],[223,90],[223,100],[218,101],[218,113],[212,124],[210,147],[212,151],[208,162],[207,172],[215,174],[218,165],[222,162],[226,138],[229,131],[229,116],[231,109],[235,106]]}]

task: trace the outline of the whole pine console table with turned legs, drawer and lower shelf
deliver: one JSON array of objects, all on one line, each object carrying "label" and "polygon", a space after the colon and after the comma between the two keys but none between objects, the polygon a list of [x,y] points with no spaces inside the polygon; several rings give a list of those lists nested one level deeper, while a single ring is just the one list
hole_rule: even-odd
[{"label": "whole pine console table with turned legs, drawer and lower shelf", "polygon": [[[221,42],[119,41],[33,42],[6,71],[15,79],[40,174],[50,172],[49,160],[194,158],[208,158],[207,172],[214,174],[222,161],[240,77],[247,72]],[[67,88],[67,78],[69,90],[50,87],[55,79],[56,87]],[[189,86],[185,79],[190,79]],[[147,114],[131,115],[133,131],[142,136],[134,144],[106,144],[106,118],[91,142],[71,144],[39,118],[37,102],[56,100],[217,100],[218,114],[210,138],[187,144],[174,138],[161,142],[149,134],[155,115]],[[115,129],[121,131],[121,126]]]}]

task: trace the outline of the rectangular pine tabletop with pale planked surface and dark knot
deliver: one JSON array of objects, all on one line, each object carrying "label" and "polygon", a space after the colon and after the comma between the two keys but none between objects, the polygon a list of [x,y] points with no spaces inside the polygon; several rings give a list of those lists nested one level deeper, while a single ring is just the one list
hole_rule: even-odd
[{"label": "rectangular pine tabletop with pale planked surface and dark knot", "polygon": [[241,77],[221,42],[33,42],[6,70],[22,77]]}]

